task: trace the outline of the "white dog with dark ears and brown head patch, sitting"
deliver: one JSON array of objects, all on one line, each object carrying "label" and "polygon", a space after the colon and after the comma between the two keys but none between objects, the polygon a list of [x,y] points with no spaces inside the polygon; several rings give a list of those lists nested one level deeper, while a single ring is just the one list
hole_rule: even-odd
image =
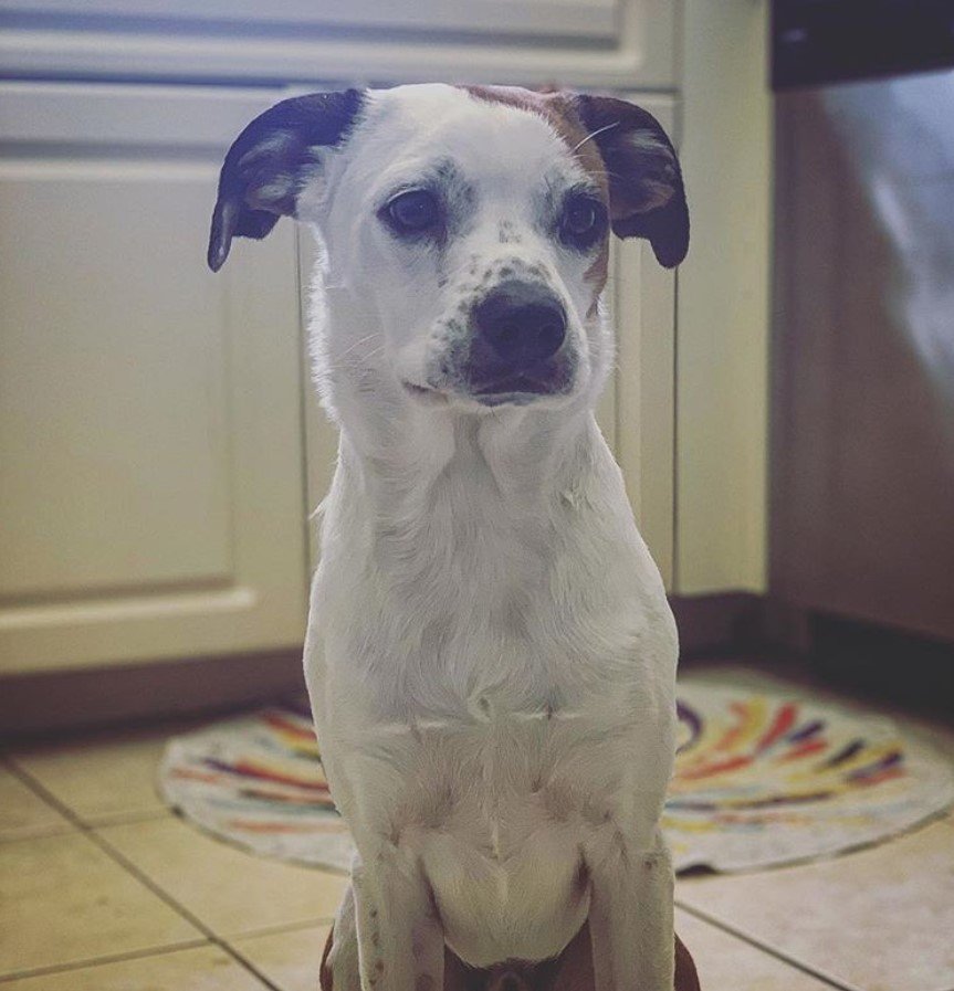
[{"label": "white dog with dark ears and brown head patch, sitting", "polygon": [[305,674],[357,853],[323,987],[672,991],[675,956],[695,987],[659,825],[677,631],[594,417],[610,232],[688,251],[672,144],[609,96],[316,93],[229,150],[211,268],[282,215],[321,247],[340,431]]}]

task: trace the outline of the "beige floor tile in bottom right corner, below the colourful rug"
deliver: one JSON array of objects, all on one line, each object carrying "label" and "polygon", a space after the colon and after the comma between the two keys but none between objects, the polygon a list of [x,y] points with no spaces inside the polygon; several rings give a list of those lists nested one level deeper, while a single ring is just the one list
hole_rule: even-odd
[{"label": "beige floor tile in bottom right corner, below the colourful rug", "polygon": [[864,991],[954,988],[954,833],[801,867],[683,878],[677,900]]}]

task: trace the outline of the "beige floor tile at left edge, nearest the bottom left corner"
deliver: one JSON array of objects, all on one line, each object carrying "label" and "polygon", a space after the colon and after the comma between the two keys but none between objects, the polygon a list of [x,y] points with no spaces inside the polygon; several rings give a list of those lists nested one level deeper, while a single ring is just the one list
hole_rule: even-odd
[{"label": "beige floor tile at left edge, nearest the bottom left corner", "polygon": [[199,938],[87,836],[0,844],[0,973]]}]

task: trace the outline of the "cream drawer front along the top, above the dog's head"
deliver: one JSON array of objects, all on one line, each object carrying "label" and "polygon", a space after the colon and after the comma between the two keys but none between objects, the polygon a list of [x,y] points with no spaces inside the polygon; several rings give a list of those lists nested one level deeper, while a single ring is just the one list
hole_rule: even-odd
[{"label": "cream drawer front along the top, above the dog's head", "polygon": [[680,0],[0,0],[7,74],[675,88]]}]

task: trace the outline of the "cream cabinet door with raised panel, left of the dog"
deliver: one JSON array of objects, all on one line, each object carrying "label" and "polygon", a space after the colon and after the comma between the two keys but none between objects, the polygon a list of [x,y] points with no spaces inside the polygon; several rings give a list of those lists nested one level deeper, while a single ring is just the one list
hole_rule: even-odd
[{"label": "cream cabinet door with raised panel, left of the dog", "polygon": [[292,225],[205,263],[279,96],[0,87],[0,673],[301,642]]}]

